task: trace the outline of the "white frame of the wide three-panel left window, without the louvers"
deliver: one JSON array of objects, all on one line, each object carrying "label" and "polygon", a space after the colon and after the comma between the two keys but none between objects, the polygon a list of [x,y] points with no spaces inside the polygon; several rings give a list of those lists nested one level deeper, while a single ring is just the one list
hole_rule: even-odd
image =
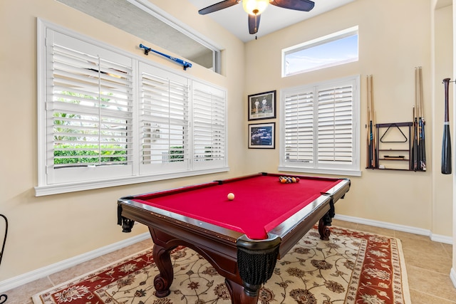
[{"label": "white frame of the wide three-panel left window, without the louvers", "polygon": [[[94,46],[95,48],[104,48],[108,51],[112,51],[114,53],[118,53],[121,56],[126,56],[127,58],[130,58],[132,63],[132,68],[133,68],[133,128],[132,128],[132,133],[133,133],[133,168],[131,169],[131,174],[128,174],[128,176],[117,176],[113,177],[112,175],[106,174],[106,173],[101,173],[101,177],[99,179],[95,180],[82,180],[82,181],[69,181],[69,182],[54,182],[51,183],[48,181],[48,166],[47,162],[49,162],[49,157],[48,157],[48,143],[49,141],[47,140],[47,132],[48,132],[48,127],[50,126],[48,124],[48,118],[46,117],[46,111],[48,107],[48,103],[46,103],[46,100],[48,98],[48,80],[46,80],[46,77],[48,77],[47,73],[48,71],[48,58],[46,55],[46,43],[48,43],[48,38],[46,37],[46,31],[50,29],[51,31],[55,31],[57,33],[61,33],[63,35],[69,36],[73,39],[78,39],[83,41],[84,43],[89,43],[90,45]],[[139,65],[145,64],[149,65],[152,68],[155,68],[157,70],[162,70],[165,71],[165,73],[172,73],[177,75],[177,77],[181,78],[186,78],[189,83],[189,91],[190,95],[189,98],[192,98],[192,83],[197,82],[202,85],[205,85],[207,87],[207,90],[217,90],[219,92],[222,92],[223,94],[223,102],[224,102],[224,126],[223,126],[223,136],[225,140],[225,145],[224,145],[224,157],[222,159],[222,162],[214,162],[214,165],[211,166],[207,164],[205,167],[201,166],[195,166],[193,167],[192,164],[190,164],[190,168],[186,167],[184,169],[180,168],[177,170],[169,170],[167,172],[155,172],[152,174],[140,174],[140,130],[139,130],[139,104],[140,104],[140,84],[139,84],[139,78],[140,78],[140,68]],[[191,117],[191,112],[192,112],[192,101],[190,100],[190,116]],[[66,192],[76,192],[76,191],[83,191],[83,190],[88,190],[88,189],[100,189],[100,188],[105,188],[105,187],[115,187],[115,186],[120,186],[120,185],[126,185],[126,184],[136,184],[136,183],[141,183],[141,182],[153,182],[157,180],[163,180],[163,179],[173,179],[173,178],[179,178],[179,177],[191,177],[191,176],[196,176],[199,174],[211,174],[211,173],[217,173],[217,172],[227,172],[229,171],[228,167],[228,159],[227,159],[227,93],[226,89],[220,88],[217,85],[214,85],[212,83],[208,83],[204,80],[199,80],[195,78],[192,75],[186,74],[185,72],[181,70],[172,69],[172,68],[167,68],[165,66],[160,65],[159,63],[155,63],[153,61],[146,61],[144,58],[140,56],[135,56],[132,53],[128,53],[126,51],[120,50],[118,48],[115,48],[113,46],[109,46],[107,43],[101,43],[100,41],[95,41],[93,38],[89,38],[87,36],[83,36],[79,33],[73,32],[71,30],[68,30],[66,28],[63,28],[61,26],[58,26],[53,23],[49,23],[48,21],[44,21],[42,19],[37,19],[37,116],[38,116],[38,126],[37,126],[37,133],[38,133],[38,185],[35,187],[35,195],[36,196],[44,196],[44,195],[50,195],[50,194],[60,194],[60,193],[66,193]],[[189,122],[189,125],[192,122]],[[191,130],[190,130],[191,132]],[[53,132],[52,135],[49,135],[53,137]],[[190,139],[191,140],[191,139]],[[192,146],[193,143],[191,141]],[[192,147],[190,147],[190,155],[192,155]],[[53,156],[53,155],[51,155]],[[52,162],[53,162],[53,157],[52,157]],[[100,171],[106,171],[106,168],[97,170],[98,172]],[[106,167],[106,166],[105,166]],[[109,167],[109,166],[108,166]],[[88,176],[93,176],[93,167],[87,167],[85,168],[84,174]],[[109,171],[109,170],[107,170]]]}]

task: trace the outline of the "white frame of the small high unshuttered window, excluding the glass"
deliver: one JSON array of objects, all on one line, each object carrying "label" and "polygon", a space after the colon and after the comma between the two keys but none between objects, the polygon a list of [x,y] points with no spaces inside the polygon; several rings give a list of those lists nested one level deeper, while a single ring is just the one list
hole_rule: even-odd
[{"label": "white frame of the small high unshuttered window, excluding the glass", "polygon": [[310,49],[310,48],[314,48],[314,47],[318,47],[318,46],[323,46],[326,43],[331,43],[333,41],[338,41],[338,40],[341,40],[343,38],[348,38],[348,37],[353,36],[353,35],[356,35],[356,36],[359,35],[358,26],[353,26],[351,28],[346,28],[346,29],[344,29],[342,31],[337,31],[336,33],[330,33],[330,34],[328,34],[326,36],[318,37],[318,38],[315,38],[315,39],[313,39],[311,41],[306,41],[304,43],[299,43],[296,46],[290,46],[289,48],[284,48],[281,51],[281,56],[282,56],[282,58],[281,58],[281,64],[282,64],[281,74],[282,74],[282,78],[293,76],[293,75],[299,75],[299,74],[302,74],[302,73],[308,73],[308,72],[311,72],[313,70],[321,70],[323,68],[331,68],[331,67],[336,66],[336,65],[343,65],[343,64],[346,64],[346,63],[352,63],[352,62],[359,61],[359,37],[358,37],[358,43],[357,43],[358,56],[356,58],[352,58],[352,59],[346,60],[346,61],[333,61],[331,63],[327,63],[327,64],[324,64],[324,65],[323,64],[322,65],[317,65],[314,68],[307,68],[307,69],[299,70],[299,71],[296,71],[294,73],[287,73],[287,71],[286,71],[286,69],[287,69],[286,56],[288,56],[290,54],[298,53],[298,52],[306,50],[306,49]]}]

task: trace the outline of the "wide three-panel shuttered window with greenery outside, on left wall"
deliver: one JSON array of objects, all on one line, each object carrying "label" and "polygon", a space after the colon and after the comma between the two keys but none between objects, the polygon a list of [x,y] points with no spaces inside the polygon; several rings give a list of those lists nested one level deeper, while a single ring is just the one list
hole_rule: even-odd
[{"label": "wide three-panel shuttered window with greenery outside, on left wall", "polygon": [[225,90],[38,28],[37,196],[227,170]]}]

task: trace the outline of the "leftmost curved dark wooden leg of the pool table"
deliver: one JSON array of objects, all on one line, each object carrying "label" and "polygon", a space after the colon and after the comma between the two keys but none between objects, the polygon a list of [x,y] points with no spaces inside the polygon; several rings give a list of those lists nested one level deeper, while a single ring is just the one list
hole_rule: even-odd
[{"label": "leftmost curved dark wooden leg of the pool table", "polygon": [[170,286],[174,279],[174,271],[172,269],[170,250],[154,244],[152,249],[152,256],[154,257],[155,264],[160,271],[154,278],[154,287],[158,298],[163,298],[169,295]]}]

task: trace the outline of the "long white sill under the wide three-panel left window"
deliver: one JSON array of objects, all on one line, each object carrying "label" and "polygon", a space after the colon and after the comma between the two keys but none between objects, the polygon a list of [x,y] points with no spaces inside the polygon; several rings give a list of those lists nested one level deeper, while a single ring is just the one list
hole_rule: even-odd
[{"label": "long white sill under the wide three-panel left window", "polygon": [[92,190],[92,189],[101,189],[101,188],[108,188],[108,187],[116,187],[116,186],[125,186],[127,184],[139,184],[142,182],[155,182],[159,180],[165,179],[175,179],[180,177],[193,177],[196,175],[202,174],[212,174],[212,173],[219,173],[219,172],[227,172],[229,171],[229,167],[220,167],[217,169],[202,169],[202,170],[194,170],[192,172],[176,172],[170,174],[160,174],[160,175],[148,175],[148,176],[141,176],[141,177],[123,177],[119,179],[108,179],[103,181],[90,181],[90,182],[79,182],[79,183],[71,183],[71,184],[53,184],[53,185],[46,185],[46,186],[36,186],[35,187],[35,196],[46,196],[52,194],[62,194],[68,192],[78,192],[84,190]]}]

